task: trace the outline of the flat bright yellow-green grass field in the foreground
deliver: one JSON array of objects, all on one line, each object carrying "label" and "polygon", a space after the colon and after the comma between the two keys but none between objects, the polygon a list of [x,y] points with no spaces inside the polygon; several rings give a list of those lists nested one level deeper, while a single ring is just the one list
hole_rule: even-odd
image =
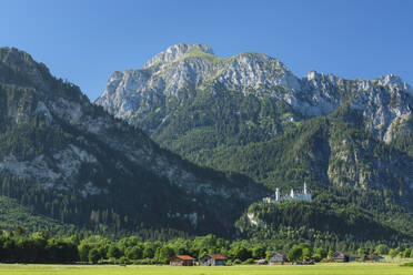
[{"label": "flat bright yellow-green grass field in the foreground", "polygon": [[313,266],[225,266],[225,267],[169,267],[169,266],[114,266],[114,265],[22,265],[0,264],[0,274],[7,275],[399,275],[413,274],[413,267],[396,263],[318,264]]}]

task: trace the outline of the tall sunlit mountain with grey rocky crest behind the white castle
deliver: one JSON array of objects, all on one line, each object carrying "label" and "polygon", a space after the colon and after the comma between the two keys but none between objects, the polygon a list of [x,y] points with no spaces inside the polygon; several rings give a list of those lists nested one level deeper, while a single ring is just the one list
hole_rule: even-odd
[{"label": "tall sunlit mountain with grey rocky crest behind the white castle", "polygon": [[413,89],[394,74],[298,78],[265,54],[181,43],[114,72],[94,103],[200,165],[283,192],[305,181],[334,215],[413,236]]}]

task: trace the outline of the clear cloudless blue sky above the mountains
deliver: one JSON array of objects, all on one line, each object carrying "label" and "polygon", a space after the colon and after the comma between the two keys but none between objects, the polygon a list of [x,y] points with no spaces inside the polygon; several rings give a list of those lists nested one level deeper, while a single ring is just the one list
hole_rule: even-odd
[{"label": "clear cloudless blue sky above the mountains", "polygon": [[169,45],[221,57],[266,53],[298,77],[399,74],[413,84],[409,0],[1,0],[0,47],[16,47],[94,100],[113,71],[139,69]]}]

